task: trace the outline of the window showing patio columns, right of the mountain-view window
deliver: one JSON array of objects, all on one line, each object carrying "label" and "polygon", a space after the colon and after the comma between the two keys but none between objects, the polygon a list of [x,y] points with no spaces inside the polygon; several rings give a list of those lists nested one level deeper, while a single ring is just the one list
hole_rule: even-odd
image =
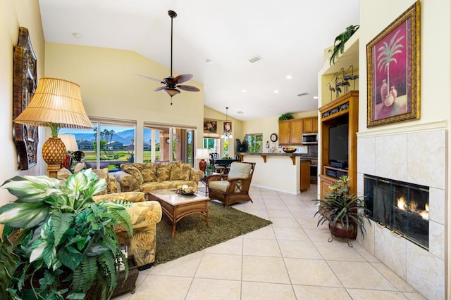
[{"label": "window showing patio columns, right of the mountain-view window", "polygon": [[144,124],[144,162],[194,162],[194,129]]}]

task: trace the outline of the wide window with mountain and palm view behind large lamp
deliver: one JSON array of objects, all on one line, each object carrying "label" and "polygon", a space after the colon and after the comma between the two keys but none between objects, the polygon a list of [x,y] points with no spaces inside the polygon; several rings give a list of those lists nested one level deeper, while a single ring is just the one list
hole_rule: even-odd
[{"label": "wide window with mountain and palm view behind large lamp", "polygon": [[[119,171],[124,162],[135,161],[135,123],[107,119],[91,119],[93,129],[61,129],[61,134],[75,135],[78,158],[87,167]],[[77,161],[73,161],[73,165]]]}]

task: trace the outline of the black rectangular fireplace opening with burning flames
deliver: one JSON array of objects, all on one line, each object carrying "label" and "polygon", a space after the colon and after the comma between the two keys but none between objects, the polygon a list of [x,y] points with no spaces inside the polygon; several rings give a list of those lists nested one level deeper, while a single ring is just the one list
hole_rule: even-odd
[{"label": "black rectangular fireplace opening with burning flames", "polygon": [[365,175],[364,195],[370,219],[428,249],[428,187]]}]

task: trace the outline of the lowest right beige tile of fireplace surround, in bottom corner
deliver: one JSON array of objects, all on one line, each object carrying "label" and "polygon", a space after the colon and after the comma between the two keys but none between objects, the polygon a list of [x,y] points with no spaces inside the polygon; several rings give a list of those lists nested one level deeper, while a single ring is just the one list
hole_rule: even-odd
[{"label": "lowest right beige tile of fireplace surround, in bottom corner", "polygon": [[407,283],[427,299],[445,300],[445,262],[407,243]]}]

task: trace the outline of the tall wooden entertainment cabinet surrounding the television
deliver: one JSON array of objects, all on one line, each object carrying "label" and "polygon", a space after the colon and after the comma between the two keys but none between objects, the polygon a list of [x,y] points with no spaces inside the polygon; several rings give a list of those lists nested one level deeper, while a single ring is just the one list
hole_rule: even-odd
[{"label": "tall wooden entertainment cabinet surrounding the television", "polygon": [[[359,91],[350,91],[333,102],[319,108],[321,117],[321,161],[319,178],[321,181],[321,197],[326,195],[331,184],[339,176],[350,177],[350,192],[357,193],[357,131],[359,130]],[[347,166],[331,166],[329,145],[329,129],[338,124],[347,124]]]}]

